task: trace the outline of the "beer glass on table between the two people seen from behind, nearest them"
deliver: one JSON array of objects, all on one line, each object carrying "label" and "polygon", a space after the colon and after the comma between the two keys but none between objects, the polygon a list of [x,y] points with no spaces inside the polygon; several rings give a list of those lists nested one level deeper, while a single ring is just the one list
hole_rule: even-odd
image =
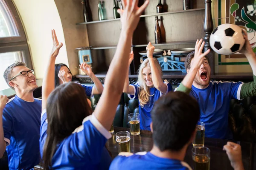
[{"label": "beer glass on table between the two people seen from behind, nearest them", "polygon": [[130,147],[130,132],[121,131],[116,133],[116,142],[118,146],[118,152],[131,152]]}]

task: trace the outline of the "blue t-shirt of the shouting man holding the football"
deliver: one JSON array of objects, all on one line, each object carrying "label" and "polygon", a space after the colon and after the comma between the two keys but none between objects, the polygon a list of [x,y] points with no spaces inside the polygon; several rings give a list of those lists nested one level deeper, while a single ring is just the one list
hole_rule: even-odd
[{"label": "blue t-shirt of the shouting man holding the football", "polygon": [[210,81],[209,86],[205,89],[198,89],[192,86],[190,95],[198,101],[200,121],[205,123],[206,137],[233,138],[228,127],[230,100],[240,100],[242,85],[242,82]]}]

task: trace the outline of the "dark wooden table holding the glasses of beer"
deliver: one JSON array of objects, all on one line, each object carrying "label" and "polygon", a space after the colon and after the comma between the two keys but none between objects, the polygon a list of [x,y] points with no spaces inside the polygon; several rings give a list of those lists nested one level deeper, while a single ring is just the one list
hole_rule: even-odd
[{"label": "dark wooden table holding the glasses of beer", "polygon": [[[129,131],[129,128],[114,127],[115,133],[119,131]],[[236,141],[233,141],[236,142]],[[205,138],[205,147],[210,149],[210,170],[233,170],[225,151],[222,150],[227,140]],[[254,144],[250,142],[237,142],[242,148],[242,159],[245,170],[253,170],[253,149]],[[118,155],[115,135],[106,143],[108,150],[112,154],[112,158]],[[131,136],[131,152],[150,151],[153,147],[152,133],[148,130],[141,130],[139,136]],[[185,161],[193,168],[193,160],[191,156],[192,144],[189,145]]]}]

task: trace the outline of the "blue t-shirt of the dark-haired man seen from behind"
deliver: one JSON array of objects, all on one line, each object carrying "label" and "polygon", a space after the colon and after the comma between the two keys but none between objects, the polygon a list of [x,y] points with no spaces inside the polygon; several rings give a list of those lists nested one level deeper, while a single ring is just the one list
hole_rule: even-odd
[{"label": "blue t-shirt of the dark-haired man seen from behind", "polygon": [[186,162],[154,156],[148,152],[145,155],[117,156],[109,170],[192,170]]}]

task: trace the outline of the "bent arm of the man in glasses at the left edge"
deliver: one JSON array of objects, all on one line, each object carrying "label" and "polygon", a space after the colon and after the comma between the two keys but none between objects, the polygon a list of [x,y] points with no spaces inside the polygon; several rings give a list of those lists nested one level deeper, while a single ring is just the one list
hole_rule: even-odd
[{"label": "bent arm of the man in glasses at the left edge", "polygon": [[3,157],[3,153],[6,150],[6,142],[4,141],[3,136],[3,108],[8,100],[9,99],[6,96],[0,95],[0,158]]}]

